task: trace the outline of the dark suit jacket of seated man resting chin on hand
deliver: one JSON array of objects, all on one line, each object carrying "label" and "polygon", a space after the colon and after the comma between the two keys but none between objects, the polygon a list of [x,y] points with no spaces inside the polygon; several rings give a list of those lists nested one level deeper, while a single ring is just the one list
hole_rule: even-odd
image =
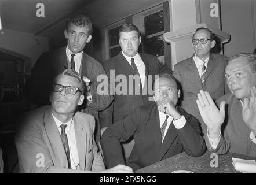
[{"label": "dark suit jacket of seated man resting chin on hand", "polygon": [[111,168],[118,164],[125,164],[120,142],[133,135],[135,144],[126,164],[134,171],[165,158],[185,151],[191,156],[201,156],[205,143],[200,136],[199,122],[195,117],[178,108],[184,115],[186,124],[176,129],[171,123],[166,136],[161,143],[159,112],[156,103],[139,106],[135,111],[123,119],[116,121],[103,133],[101,147],[105,164]]}]

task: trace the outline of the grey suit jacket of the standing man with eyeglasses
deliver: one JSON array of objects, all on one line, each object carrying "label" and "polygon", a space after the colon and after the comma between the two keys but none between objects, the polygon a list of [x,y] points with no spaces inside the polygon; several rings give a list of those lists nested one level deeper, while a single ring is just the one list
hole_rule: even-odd
[{"label": "grey suit jacket of the standing man with eyeglasses", "polygon": [[204,135],[206,134],[206,125],[203,123],[196,105],[197,95],[200,90],[207,91],[215,101],[229,91],[224,75],[227,60],[228,57],[221,54],[210,54],[204,85],[193,61],[193,56],[174,65],[173,76],[180,82],[182,88],[181,107],[200,121]]}]

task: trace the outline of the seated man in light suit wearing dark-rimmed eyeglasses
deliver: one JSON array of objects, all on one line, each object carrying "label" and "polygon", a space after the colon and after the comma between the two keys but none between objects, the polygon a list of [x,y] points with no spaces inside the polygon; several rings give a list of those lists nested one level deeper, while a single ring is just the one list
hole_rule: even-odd
[{"label": "seated man in light suit wearing dark-rimmed eyeglasses", "polygon": [[51,105],[18,120],[15,143],[21,173],[133,173],[124,165],[105,171],[94,141],[94,117],[77,111],[85,87],[78,72],[65,69],[54,79]]}]

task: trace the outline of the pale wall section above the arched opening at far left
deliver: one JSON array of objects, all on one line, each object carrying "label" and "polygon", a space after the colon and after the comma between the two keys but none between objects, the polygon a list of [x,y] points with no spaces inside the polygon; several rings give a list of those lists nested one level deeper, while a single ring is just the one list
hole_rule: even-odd
[{"label": "pale wall section above the arched opening at far left", "polygon": [[0,47],[30,57],[32,68],[38,57],[49,51],[49,40],[42,36],[4,29],[4,34],[0,34]]}]

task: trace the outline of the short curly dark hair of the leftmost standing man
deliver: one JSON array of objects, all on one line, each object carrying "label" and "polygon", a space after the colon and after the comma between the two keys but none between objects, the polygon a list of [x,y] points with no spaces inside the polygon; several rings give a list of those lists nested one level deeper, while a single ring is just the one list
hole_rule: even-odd
[{"label": "short curly dark hair of the leftmost standing man", "polygon": [[90,21],[90,18],[85,15],[85,13],[74,14],[72,17],[68,18],[66,23],[66,30],[68,31],[68,27],[73,23],[77,27],[85,27],[88,28],[88,35],[91,35],[93,32],[93,25]]}]

